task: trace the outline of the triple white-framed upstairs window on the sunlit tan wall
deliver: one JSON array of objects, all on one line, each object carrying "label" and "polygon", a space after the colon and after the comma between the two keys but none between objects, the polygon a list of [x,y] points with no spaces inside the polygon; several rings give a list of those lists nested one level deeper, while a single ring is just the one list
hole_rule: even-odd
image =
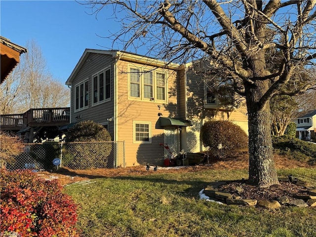
[{"label": "triple white-framed upstairs window on the sunlit tan wall", "polygon": [[166,97],[166,76],[156,70],[129,69],[129,97],[141,100],[162,100]]}]

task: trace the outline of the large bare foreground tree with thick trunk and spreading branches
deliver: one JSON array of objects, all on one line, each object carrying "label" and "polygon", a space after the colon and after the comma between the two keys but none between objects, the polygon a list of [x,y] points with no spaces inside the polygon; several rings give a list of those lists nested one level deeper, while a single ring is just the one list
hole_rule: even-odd
[{"label": "large bare foreground tree with thick trunk and spreading branches", "polygon": [[[315,82],[296,83],[291,76],[314,63],[316,0],[88,0],[87,4],[92,13],[112,6],[114,14],[125,15],[119,19],[121,29],[112,35],[116,44],[124,45],[122,49],[148,47],[147,55],[172,62],[207,57],[211,68],[222,73],[221,79],[232,81],[246,99],[249,182],[260,187],[278,184],[270,99],[315,87]],[[282,55],[274,68],[268,67],[268,51]]]}]

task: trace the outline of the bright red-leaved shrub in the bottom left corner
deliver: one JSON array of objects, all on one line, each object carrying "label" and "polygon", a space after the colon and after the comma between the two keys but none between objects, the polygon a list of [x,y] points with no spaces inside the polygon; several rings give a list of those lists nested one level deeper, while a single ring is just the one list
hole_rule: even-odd
[{"label": "bright red-leaved shrub in the bottom left corner", "polygon": [[1,236],[78,237],[77,205],[57,181],[30,170],[1,170]]}]

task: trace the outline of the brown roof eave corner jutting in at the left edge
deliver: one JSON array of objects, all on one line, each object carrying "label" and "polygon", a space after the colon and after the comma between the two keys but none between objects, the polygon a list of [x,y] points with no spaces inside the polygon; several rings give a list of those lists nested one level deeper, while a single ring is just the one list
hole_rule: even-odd
[{"label": "brown roof eave corner jutting in at the left edge", "polygon": [[0,36],[1,53],[1,83],[10,74],[13,68],[20,62],[20,55],[26,53],[27,49],[12,43],[10,40]]}]

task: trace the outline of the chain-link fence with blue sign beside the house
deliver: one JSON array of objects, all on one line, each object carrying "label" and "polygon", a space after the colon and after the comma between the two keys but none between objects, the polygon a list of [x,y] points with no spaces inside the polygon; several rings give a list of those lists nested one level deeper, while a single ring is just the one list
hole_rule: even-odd
[{"label": "chain-link fence with blue sign beside the house", "polygon": [[55,158],[60,161],[58,167],[70,169],[125,167],[125,145],[124,141],[32,143],[10,162],[0,161],[8,170],[53,170]]}]

